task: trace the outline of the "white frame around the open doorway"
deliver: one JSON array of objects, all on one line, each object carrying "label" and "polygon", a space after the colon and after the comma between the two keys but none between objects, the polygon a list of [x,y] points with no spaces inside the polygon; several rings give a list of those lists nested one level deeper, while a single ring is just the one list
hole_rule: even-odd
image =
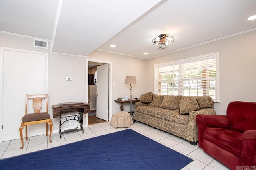
[{"label": "white frame around the open doorway", "polygon": [[[89,68],[88,68],[88,64],[89,61],[91,62],[96,62],[96,63],[104,63],[104,64],[109,64],[109,80],[108,80],[108,109],[109,109],[109,114],[108,114],[108,120],[111,119],[112,117],[112,75],[113,75],[113,69],[112,69],[112,62],[111,61],[103,61],[103,60],[96,60],[96,59],[90,59],[90,58],[86,58],[86,86],[85,86],[85,101],[88,102],[88,72],[89,72]],[[97,106],[99,106],[99,104],[97,104]],[[88,114],[86,114],[86,124],[85,126],[88,126]]]}]

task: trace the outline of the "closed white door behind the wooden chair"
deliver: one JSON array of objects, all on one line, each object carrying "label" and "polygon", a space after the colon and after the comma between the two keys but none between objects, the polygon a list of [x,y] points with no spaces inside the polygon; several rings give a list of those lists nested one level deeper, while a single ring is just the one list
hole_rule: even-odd
[{"label": "closed white door behind the wooden chair", "polygon": [[[19,127],[25,115],[25,95],[45,94],[47,55],[4,50],[2,141],[20,138]],[[46,109],[45,105],[41,111],[44,109]],[[28,108],[28,113],[33,113],[32,107]],[[28,126],[28,136],[41,134],[44,134],[44,123]],[[25,137],[25,128],[23,136]]]}]

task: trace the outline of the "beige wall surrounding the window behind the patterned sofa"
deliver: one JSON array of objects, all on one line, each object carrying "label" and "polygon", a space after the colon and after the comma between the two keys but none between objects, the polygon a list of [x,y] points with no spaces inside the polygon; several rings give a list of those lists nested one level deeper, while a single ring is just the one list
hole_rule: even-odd
[{"label": "beige wall surrounding the window behind the patterned sofa", "polygon": [[217,114],[225,115],[226,107],[231,101],[256,102],[255,39],[256,31],[252,31],[149,59],[146,61],[147,91],[153,92],[154,89],[154,64],[219,52],[220,103],[215,103],[214,106]]}]

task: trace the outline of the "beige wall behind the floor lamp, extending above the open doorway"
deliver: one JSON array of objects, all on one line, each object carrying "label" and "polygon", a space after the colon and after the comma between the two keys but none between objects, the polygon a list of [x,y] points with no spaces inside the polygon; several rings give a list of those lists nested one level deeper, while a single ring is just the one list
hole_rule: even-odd
[{"label": "beige wall behind the floor lamp, extending above the open doorway", "polygon": [[[94,51],[87,58],[112,62],[112,80],[115,82],[115,85],[112,86],[113,100],[122,96],[130,98],[130,85],[124,84],[126,76],[137,77],[137,84],[132,85],[132,98],[140,98],[141,94],[147,92],[145,89],[146,60],[102,51]],[[112,102],[112,113],[120,111],[120,104]],[[130,111],[129,104],[124,104],[124,111]]]}]

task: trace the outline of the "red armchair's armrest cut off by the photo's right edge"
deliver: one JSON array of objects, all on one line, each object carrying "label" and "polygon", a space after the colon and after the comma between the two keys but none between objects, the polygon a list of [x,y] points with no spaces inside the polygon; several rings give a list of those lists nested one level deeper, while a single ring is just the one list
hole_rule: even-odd
[{"label": "red armchair's armrest cut off by the photo's right edge", "polygon": [[242,134],[242,166],[256,165],[256,130],[247,130]]}]

